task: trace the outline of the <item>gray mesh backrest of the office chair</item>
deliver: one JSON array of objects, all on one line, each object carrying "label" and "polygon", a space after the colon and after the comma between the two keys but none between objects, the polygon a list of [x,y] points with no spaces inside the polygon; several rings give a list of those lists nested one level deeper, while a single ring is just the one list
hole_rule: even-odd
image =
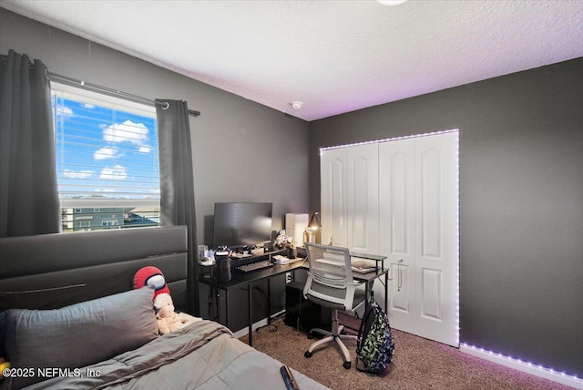
[{"label": "gray mesh backrest of the office chair", "polygon": [[303,289],[306,299],[343,311],[352,311],[354,292],[362,282],[353,280],[348,248],[306,242],[310,271]]}]

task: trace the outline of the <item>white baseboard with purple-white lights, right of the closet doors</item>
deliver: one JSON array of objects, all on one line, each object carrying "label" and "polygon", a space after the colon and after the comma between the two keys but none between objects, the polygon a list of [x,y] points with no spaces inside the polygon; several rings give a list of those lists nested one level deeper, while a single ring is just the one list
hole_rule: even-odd
[{"label": "white baseboard with purple-white lights, right of the closet doors", "polygon": [[568,385],[576,389],[583,390],[583,379],[577,376],[566,375],[555,370],[542,367],[540,365],[529,364],[512,357],[507,357],[502,354],[485,351],[481,348],[476,348],[468,344],[460,344],[459,350],[465,354],[471,354],[480,359],[487,360],[496,364],[505,365],[506,367],[514,368],[530,375],[548,379],[549,381],[557,382],[561,385]]}]

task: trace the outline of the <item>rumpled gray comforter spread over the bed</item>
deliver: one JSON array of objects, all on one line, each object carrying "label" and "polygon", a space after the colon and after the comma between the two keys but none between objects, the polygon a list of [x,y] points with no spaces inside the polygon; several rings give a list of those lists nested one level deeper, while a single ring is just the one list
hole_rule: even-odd
[{"label": "rumpled gray comforter spread over the bed", "polygon": [[[277,360],[233,338],[220,323],[203,320],[113,359],[26,388],[285,389],[280,367]],[[292,373],[302,390],[326,388]]]}]

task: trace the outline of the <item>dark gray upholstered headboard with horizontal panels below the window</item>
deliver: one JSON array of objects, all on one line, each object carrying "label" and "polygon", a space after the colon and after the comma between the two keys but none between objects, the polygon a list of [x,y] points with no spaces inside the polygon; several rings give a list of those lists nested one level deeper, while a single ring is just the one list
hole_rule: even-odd
[{"label": "dark gray upholstered headboard with horizontal panels below the window", "polygon": [[42,234],[0,239],[0,312],[55,309],[133,288],[152,265],[176,308],[188,311],[185,226]]}]

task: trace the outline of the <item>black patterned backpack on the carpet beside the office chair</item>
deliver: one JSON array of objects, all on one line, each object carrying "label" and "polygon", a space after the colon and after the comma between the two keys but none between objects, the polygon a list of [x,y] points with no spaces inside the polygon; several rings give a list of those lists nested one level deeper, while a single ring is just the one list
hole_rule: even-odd
[{"label": "black patterned backpack on the carpet beside the office chair", "polygon": [[389,317],[381,306],[371,300],[358,330],[356,344],[356,369],[381,374],[394,354],[394,340]]}]

